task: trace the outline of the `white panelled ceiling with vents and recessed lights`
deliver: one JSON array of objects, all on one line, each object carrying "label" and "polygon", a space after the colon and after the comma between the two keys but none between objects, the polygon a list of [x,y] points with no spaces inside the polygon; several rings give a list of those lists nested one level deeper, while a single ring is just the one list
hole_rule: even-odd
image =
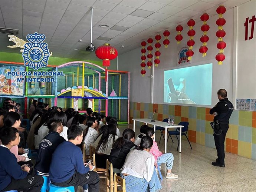
[{"label": "white panelled ceiling with vents and recessed lights", "polygon": [[[94,52],[85,51],[91,38],[90,7],[94,8],[93,45],[98,47],[106,43],[106,40],[97,39],[100,36],[101,39],[112,38],[108,43],[122,54],[139,47],[142,40],[154,37],[166,29],[174,32],[177,24],[186,25],[190,18],[200,21],[201,14],[205,12],[213,16],[220,4],[230,9],[247,1],[249,0],[0,0],[0,27],[19,29],[18,37],[24,40],[28,33],[45,34],[45,42],[55,57],[96,59]],[[134,14],[139,14],[140,17]],[[109,28],[99,27],[100,24],[107,24]],[[115,25],[127,29],[124,32],[112,30],[111,27]],[[78,42],[79,39],[82,42]],[[20,53],[19,48],[7,48],[8,45],[13,45],[7,34],[0,33],[0,42],[0,52]],[[124,48],[121,48],[122,45]]]}]

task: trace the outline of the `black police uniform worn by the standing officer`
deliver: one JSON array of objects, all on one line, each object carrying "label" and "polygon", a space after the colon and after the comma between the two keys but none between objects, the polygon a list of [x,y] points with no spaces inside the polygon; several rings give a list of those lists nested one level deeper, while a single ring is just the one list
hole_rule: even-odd
[{"label": "black police uniform worn by the standing officer", "polygon": [[233,112],[234,106],[227,99],[221,99],[212,109],[210,109],[210,114],[217,112],[217,116],[214,117],[214,122],[219,120],[220,122],[220,132],[213,133],[214,142],[217,149],[218,162],[220,165],[225,165],[225,151],[224,151],[224,141],[226,137],[227,130],[229,129],[229,118]]}]

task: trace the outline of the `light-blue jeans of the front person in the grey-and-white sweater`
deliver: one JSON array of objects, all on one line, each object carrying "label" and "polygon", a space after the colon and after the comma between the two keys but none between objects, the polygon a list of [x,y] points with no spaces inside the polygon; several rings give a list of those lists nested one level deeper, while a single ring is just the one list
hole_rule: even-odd
[{"label": "light-blue jeans of the front person in the grey-and-white sweater", "polygon": [[159,181],[157,172],[153,172],[150,182],[147,182],[144,178],[137,178],[132,175],[124,176],[121,173],[121,177],[125,178],[125,186],[127,192],[157,192],[162,189],[161,183]]}]

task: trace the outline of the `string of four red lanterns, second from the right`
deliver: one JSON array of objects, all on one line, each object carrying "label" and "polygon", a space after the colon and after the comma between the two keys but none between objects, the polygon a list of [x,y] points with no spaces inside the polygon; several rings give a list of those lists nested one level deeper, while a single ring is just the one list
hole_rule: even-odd
[{"label": "string of four red lanterns, second from the right", "polygon": [[203,36],[200,38],[200,41],[203,43],[203,46],[199,48],[199,52],[203,54],[203,57],[206,56],[206,52],[208,47],[206,47],[207,42],[209,41],[209,37],[206,35],[207,31],[210,29],[210,26],[206,23],[209,19],[209,15],[204,13],[200,17],[201,21],[203,21],[203,25],[201,26],[201,31],[203,32]]}]

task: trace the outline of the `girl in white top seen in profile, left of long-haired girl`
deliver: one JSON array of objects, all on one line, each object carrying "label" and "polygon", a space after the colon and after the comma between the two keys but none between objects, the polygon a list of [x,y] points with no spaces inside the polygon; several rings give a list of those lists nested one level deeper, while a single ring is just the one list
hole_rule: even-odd
[{"label": "girl in white top seen in profile, left of long-haired girl", "polygon": [[93,145],[93,143],[95,142],[96,138],[99,135],[98,132],[98,123],[95,117],[88,117],[87,119],[87,127],[84,131],[85,134],[85,138],[84,138],[84,142],[85,142],[85,155],[89,155],[90,154],[90,145]]}]

